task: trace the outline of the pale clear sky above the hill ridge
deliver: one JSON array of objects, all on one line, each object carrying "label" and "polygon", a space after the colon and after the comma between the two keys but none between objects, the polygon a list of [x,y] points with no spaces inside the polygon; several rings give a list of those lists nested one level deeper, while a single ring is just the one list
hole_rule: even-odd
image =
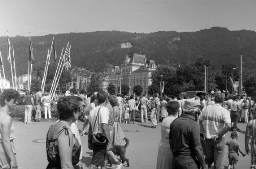
[{"label": "pale clear sky above the hill ridge", "polygon": [[94,31],[256,31],[255,0],[0,0],[0,36]]}]

